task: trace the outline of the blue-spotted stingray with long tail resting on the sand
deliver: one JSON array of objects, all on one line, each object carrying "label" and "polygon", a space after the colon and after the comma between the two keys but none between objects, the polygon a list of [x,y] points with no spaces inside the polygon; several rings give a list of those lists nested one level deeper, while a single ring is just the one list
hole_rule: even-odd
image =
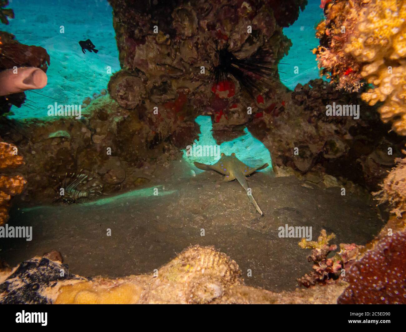
[{"label": "blue-spotted stingray with long tail resting on the sand", "polygon": [[[251,200],[251,203],[255,206],[255,209],[263,215],[261,209],[259,208],[257,202],[255,201],[252,193],[251,188],[248,188],[247,181],[245,179],[246,176],[251,175],[253,172],[257,170],[261,170],[263,168],[268,167],[267,164],[263,164],[259,167],[250,167],[240,161],[236,156],[235,153],[231,153],[231,155],[225,155],[224,153],[221,154],[221,158],[213,165],[202,164],[200,162],[194,162],[194,166],[200,168],[201,170],[215,170],[223,175],[225,175],[224,180],[225,182],[233,181],[237,179],[247,192],[248,197]],[[248,190],[250,189],[250,190]]]}]

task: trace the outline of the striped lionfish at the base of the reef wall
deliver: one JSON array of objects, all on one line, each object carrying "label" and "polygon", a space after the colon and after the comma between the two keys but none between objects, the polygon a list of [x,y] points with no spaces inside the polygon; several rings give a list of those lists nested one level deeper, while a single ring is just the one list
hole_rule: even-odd
[{"label": "striped lionfish at the base of the reef wall", "polygon": [[[76,176],[75,173],[69,176],[66,173],[63,180],[59,177],[59,188],[58,190],[54,189],[58,193],[58,197],[54,199],[54,202],[62,200],[63,203],[67,204],[78,203],[83,199],[102,194],[103,186],[93,181],[98,177],[89,177],[88,174],[82,171],[80,170]],[[89,185],[91,181],[93,183]]]}]

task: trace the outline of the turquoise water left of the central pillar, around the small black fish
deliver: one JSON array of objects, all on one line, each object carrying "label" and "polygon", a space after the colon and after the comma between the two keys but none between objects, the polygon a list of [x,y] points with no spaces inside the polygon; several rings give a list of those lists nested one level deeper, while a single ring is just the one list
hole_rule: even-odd
[{"label": "turquoise water left of the central pillar, around the small black fish", "polygon": [[[14,34],[20,43],[47,50],[51,57],[48,85],[37,92],[56,99],[26,91],[35,109],[13,106],[14,118],[47,116],[48,105],[55,101],[80,105],[84,98],[107,88],[111,73],[120,69],[107,0],[13,0],[8,7],[14,10],[15,19],[0,28]],[[86,39],[91,39],[99,53],[82,53],[78,42]]]}]

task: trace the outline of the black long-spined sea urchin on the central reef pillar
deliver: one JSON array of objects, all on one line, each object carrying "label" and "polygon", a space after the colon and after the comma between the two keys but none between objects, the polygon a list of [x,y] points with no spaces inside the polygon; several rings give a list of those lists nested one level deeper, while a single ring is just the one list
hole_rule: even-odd
[{"label": "black long-spined sea urchin on the central reef pillar", "polygon": [[255,93],[268,95],[272,88],[271,81],[279,80],[276,69],[279,62],[274,58],[270,47],[260,47],[246,58],[243,57],[246,50],[231,52],[229,43],[221,48],[216,46],[215,51],[218,65],[212,65],[209,78],[216,84],[233,76],[240,83],[242,90],[254,98]]}]

